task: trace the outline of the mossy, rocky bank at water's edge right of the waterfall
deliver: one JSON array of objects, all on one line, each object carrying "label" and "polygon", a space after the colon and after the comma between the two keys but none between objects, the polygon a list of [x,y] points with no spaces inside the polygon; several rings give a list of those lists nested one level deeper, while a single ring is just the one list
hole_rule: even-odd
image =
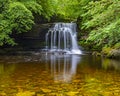
[{"label": "mossy, rocky bank at water's edge right of the waterfall", "polygon": [[120,59],[120,43],[117,43],[112,47],[98,47],[86,43],[85,41],[81,41],[79,42],[79,45],[82,46],[84,50],[91,51],[92,55],[103,56],[110,59]]}]

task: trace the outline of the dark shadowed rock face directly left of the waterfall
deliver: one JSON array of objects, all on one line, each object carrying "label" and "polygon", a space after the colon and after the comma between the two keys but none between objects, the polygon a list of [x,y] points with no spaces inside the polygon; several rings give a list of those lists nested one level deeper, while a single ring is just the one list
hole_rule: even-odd
[{"label": "dark shadowed rock face directly left of the waterfall", "polygon": [[32,30],[14,36],[20,47],[26,49],[40,49],[45,46],[45,34],[52,24],[36,24]]}]

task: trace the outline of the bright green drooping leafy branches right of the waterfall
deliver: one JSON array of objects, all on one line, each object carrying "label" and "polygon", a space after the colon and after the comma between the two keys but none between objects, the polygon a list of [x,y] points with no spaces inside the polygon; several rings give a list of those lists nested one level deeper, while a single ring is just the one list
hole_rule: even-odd
[{"label": "bright green drooping leafy branches right of the waterfall", "polygon": [[82,29],[90,31],[88,42],[113,46],[120,41],[120,1],[91,1],[82,14]]}]

